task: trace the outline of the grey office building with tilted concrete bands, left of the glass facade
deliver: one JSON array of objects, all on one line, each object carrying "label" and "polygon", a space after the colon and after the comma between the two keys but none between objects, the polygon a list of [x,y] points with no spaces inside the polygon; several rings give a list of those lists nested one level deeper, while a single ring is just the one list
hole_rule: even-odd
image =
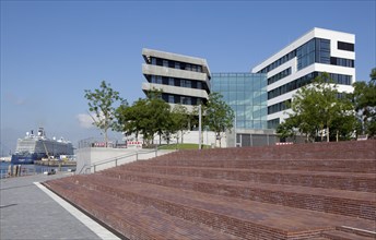
[{"label": "grey office building with tilted concrete bands, left of the glass facade", "polygon": [[145,94],[153,88],[162,89],[162,98],[172,107],[181,104],[188,110],[208,101],[211,74],[205,59],[145,48],[142,56]]}]

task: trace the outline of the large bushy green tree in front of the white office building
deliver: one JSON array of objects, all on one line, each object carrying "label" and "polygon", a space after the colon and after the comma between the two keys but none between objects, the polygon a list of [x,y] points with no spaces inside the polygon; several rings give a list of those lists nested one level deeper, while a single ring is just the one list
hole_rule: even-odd
[{"label": "large bushy green tree in front of the white office building", "polygon": [[[337,139],[340,132],[341,135],[349,135],[353,130],[353,107],[346,98],[339,97],[337,85],[328,73],[322,73],[312,84],[299,88],[293,97],[291,108],[292,119],[279,128],[281,136],[289,133],[286,130],[298,129],[306,134],[307,140],[320,136],[324,141],[325,133],[329,142],[330,135],[333,135],[330,130],[334,130]],[[341,121],[346,121],[348,124],[341,127]]]}]

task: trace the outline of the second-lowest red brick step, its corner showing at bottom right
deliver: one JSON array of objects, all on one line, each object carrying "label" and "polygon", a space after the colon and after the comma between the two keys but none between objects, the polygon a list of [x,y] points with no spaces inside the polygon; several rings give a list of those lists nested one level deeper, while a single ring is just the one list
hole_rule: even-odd
[{"label": "second-lowest red brick step, its corner showing at bottom right", "polygon": [[[336,226],[341,226],[343,223],[354,228],[374,229],[374,221],[371,220],[226,196],[213,196],[99,175],[92,175],[90,178],[75,176],[70,180],[64,179],[64,184],[68,184],[66,191],[72,191],[73,196],[77,190],[72,190],[69,182],[82,185],[89,192],[101,192],[101,195],[95,197],[106,197],[107,194],[116,195],[121,201],[126,200],[154,207],[163,213],[203,224],[239,238],[310,239],[319,237],[321,231],[334,229]],[[50,185],[54,189],[54,183]],[[127,216],[131,215],[124,215],[124,217]]]}]

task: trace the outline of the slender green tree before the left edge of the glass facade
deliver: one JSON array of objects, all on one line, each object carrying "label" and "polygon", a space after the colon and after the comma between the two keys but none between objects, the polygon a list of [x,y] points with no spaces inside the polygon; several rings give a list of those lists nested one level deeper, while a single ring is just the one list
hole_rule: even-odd
[{"label": "slender green tree before the left edge of the glass facade", "polygon": [[223,96],[221,94],[211,93],[203,111],[203,125],[209,125],[210,130],[215,132],[216,140],[220,141],[220,147],[222,139],[221,134],[233,128],[235,118],[233,109],[222,100],[222,98]]}]

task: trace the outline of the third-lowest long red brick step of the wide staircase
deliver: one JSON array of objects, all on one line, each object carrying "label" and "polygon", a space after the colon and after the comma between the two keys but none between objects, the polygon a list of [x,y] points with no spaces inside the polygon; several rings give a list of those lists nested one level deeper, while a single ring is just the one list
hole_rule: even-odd
[{"label": "third-lowest long red brick step of the wide staircase", "polygon": [[376,194],[296,185],[282,185],[233,180],[202,179],[108,169],[103,176],[129,181],[193,190],[303,209],[375,219]]}]

